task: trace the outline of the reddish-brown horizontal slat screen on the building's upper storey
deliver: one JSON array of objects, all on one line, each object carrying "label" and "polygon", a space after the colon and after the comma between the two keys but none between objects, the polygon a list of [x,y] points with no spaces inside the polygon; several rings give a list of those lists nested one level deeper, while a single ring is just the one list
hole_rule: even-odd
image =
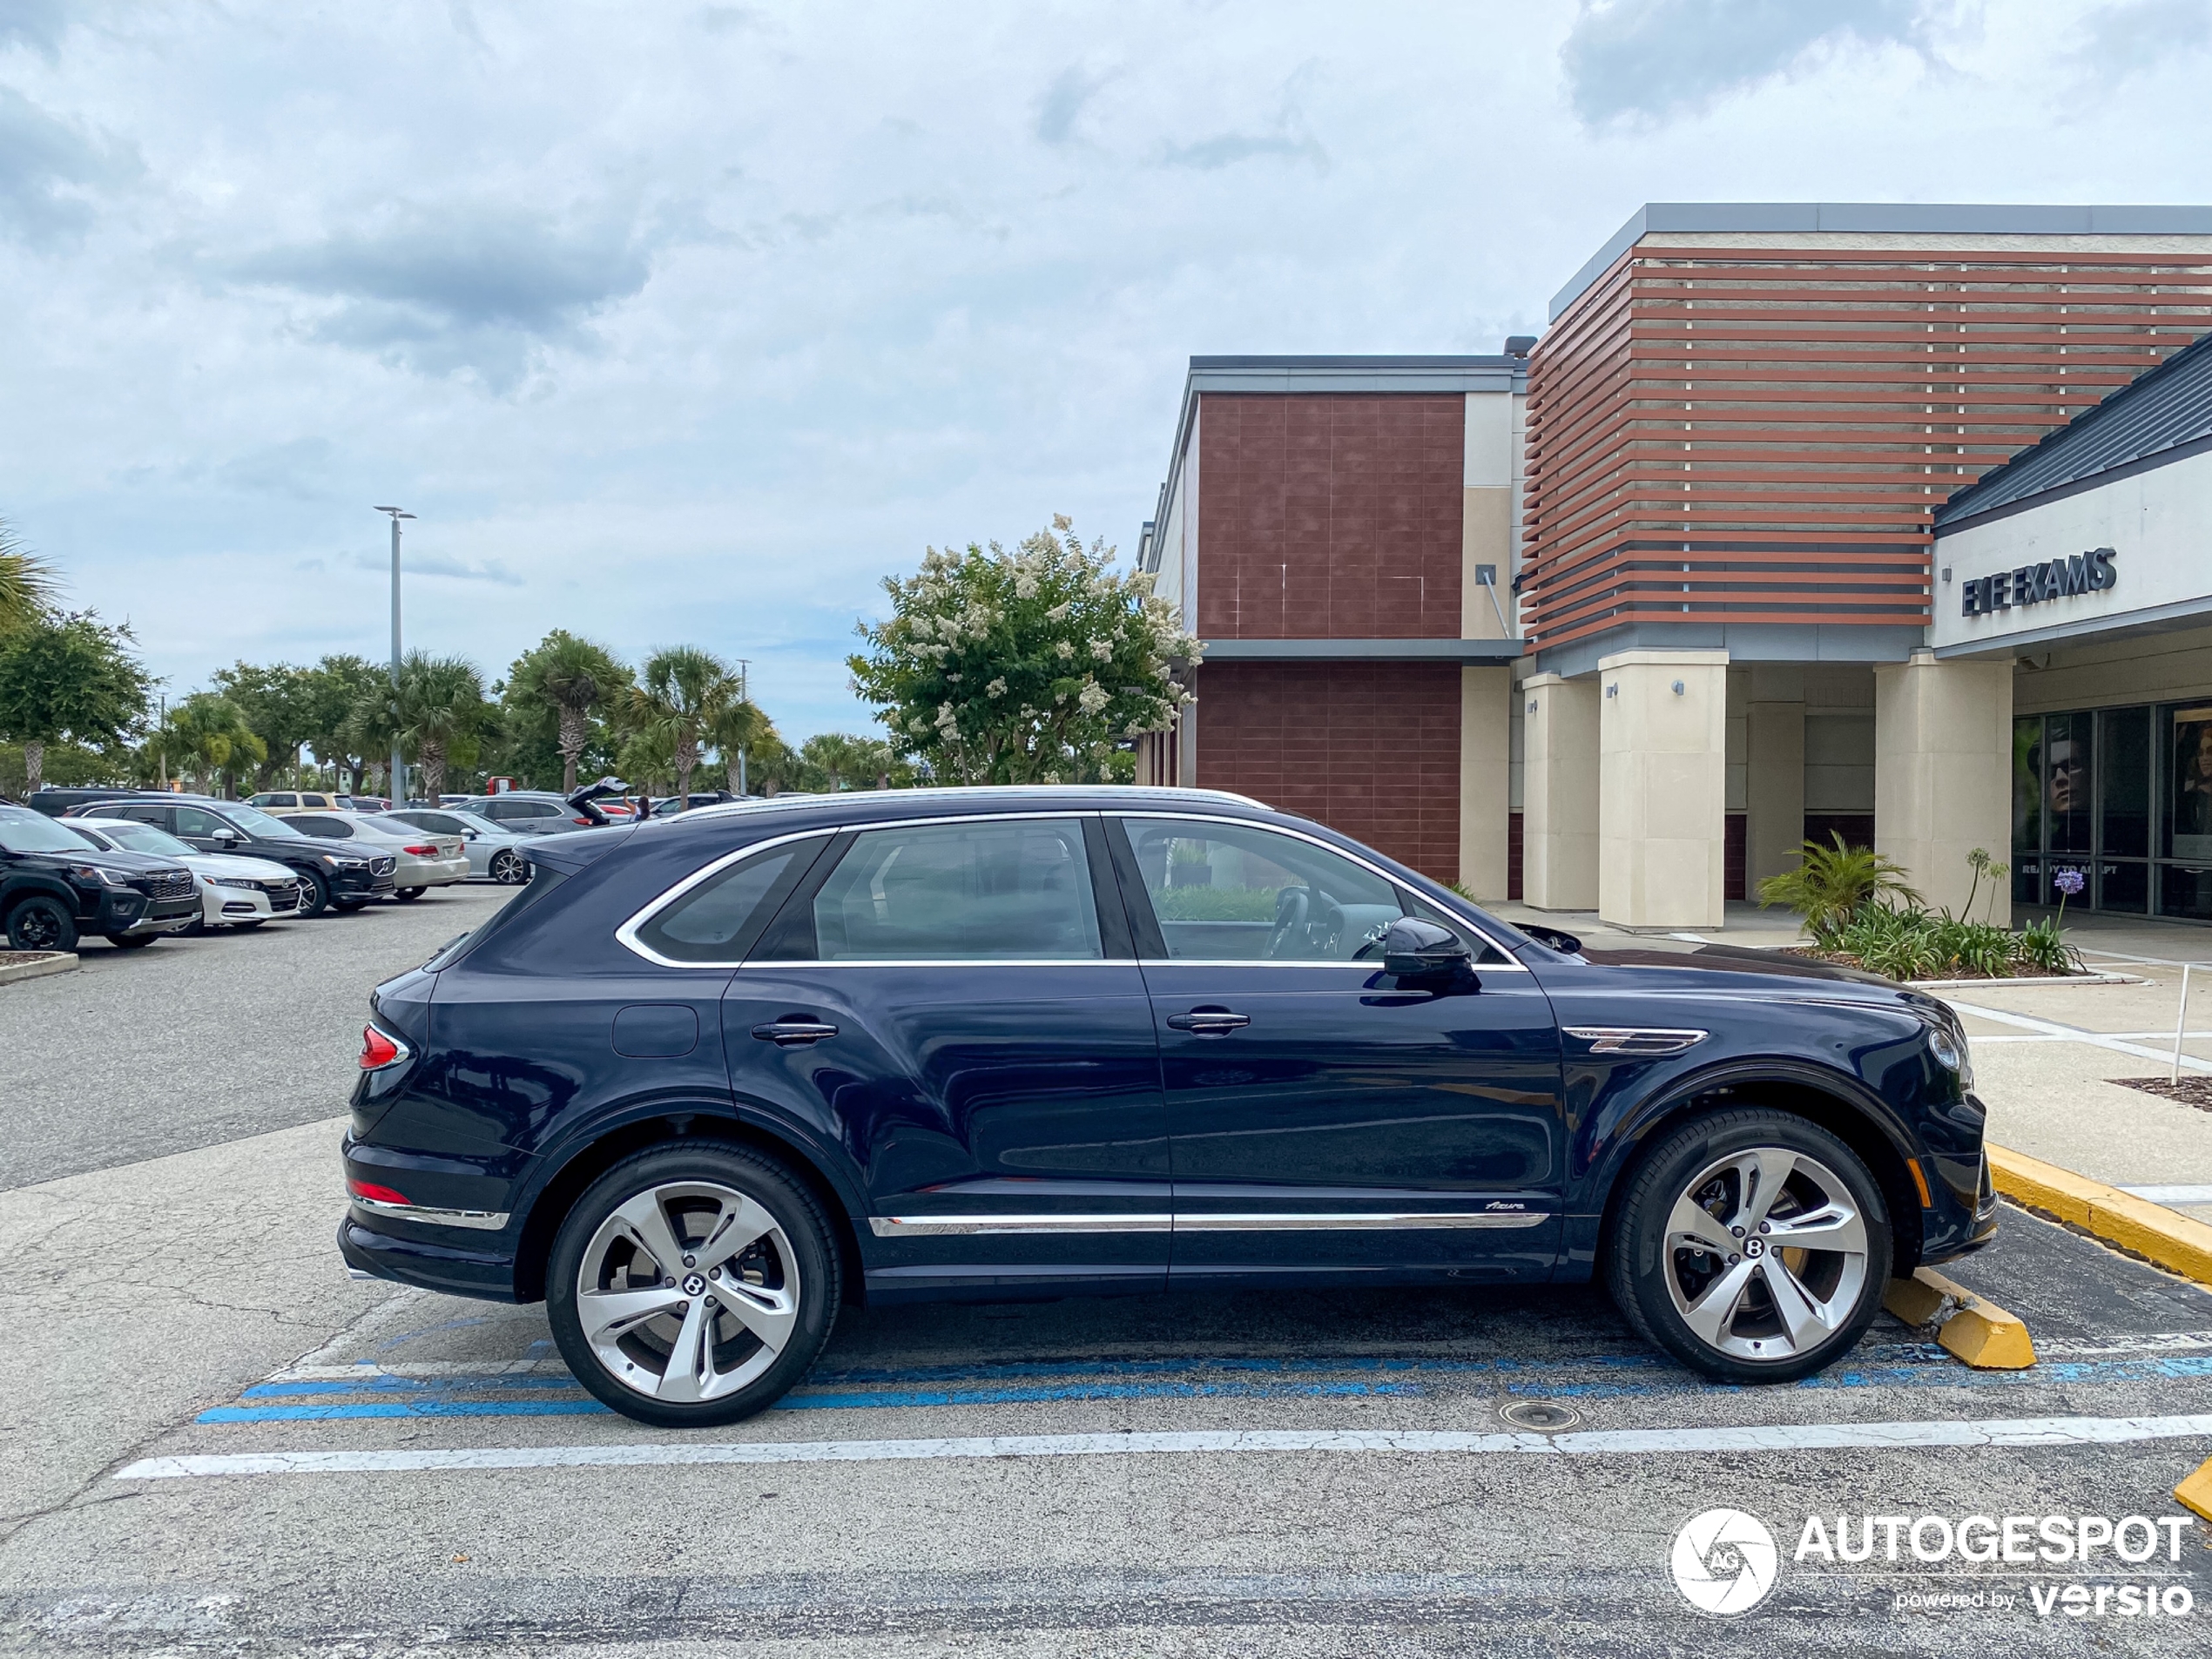
[{"label": "reddish-brown horizontal slat screen on the building's upper storey", "polygon": [[2212,327],[2212,257],[1630,248],[1528,365],[1537,646],[1929,619],[1947,495]]}]

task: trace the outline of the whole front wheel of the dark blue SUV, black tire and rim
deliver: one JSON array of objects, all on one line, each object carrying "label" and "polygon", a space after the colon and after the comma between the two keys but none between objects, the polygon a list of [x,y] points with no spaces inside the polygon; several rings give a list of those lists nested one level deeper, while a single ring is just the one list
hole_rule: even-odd
[{"label": "whole front wheel of the dark blue SUV, black tire and rim", "polygon": [[[1776,1243],[1796,1230],[1834,1248]],[[1794,1383],[1880,1312],[1889,1210],[1874,1172],[1818,1124],[1725,1110],[1644,1155],[1606,1254],[1613,1301],[1644,1340],[1721,1383]]]}]

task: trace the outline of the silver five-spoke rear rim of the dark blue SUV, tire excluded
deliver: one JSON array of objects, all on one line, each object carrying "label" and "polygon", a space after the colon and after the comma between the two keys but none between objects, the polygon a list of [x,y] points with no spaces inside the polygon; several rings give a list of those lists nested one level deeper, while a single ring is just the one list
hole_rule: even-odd
[{"label": "silver five-spoke rear rim of the dark blue SUV, tire excluded", "polygon": [[737,1394],[799,1325],[783,1223],[714,1181],[666,1181],[615,1208],[577,1263],[575,1314],[599,1367],[675,1405]]}]

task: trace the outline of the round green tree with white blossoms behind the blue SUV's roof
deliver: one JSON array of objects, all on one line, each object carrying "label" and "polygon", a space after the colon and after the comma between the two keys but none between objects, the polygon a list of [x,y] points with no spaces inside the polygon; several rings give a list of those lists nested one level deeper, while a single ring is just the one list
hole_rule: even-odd
[{"label": "round green tree with white blossoms behind the blue SUV's roof", "polygon": [[949,783],[1099,776],[1117,743],[1192,701],[1170,661],[1199,659],[1152,577],[1113,555],[1062,515],[1013,553],[929,549],[916,575],[885,577],[891,615],[860,624],[854,690]]}]

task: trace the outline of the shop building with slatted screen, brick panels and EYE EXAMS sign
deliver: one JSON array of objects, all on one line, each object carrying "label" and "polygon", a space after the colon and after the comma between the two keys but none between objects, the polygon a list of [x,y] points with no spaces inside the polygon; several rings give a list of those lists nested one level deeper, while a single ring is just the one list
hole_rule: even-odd
[{"label": "shop building with slatted screen, brick panels and EYE EXAMS sign", "polygon": [[[2199,914],[2199,836],[2177,825],[2212,781],[2170,776],[2203,701],[2212,779],[2212,639],[2177,622],[2194,566],[2137,553],[2170,566],[2152,586],[2128,555],[2090,560],[2084,584],[2124,586],[2075,593],[2070,560],[2119,546],[2108,526],[2042,553],[2066,588],[2046,608],[1966,615],[1938,560],[1964,571],[1966,538],[1980,582],[2031,524],[2062,535],[2093,489],[2066,509],[1993,491],[2086,467],[2075,434],[2126,449],[2130,400],[2163,425],[2115,465],[2185,491],[2185,465],[2150,456],[2201,380],[2174,354],[2212,330],[2212,210],[1652,204],[1551,316],[1498,358],[1192,361],[1139,557],[1206,659],[1146,776],[1626,927],[1717,927],[1829,836],[1953,909],[1973,849],[2011,863],[1978,916],[2046,902],[2070,858],[2075,902]],[[2011,648],[2066,606],[2095,622],[2081,644]],[[2119,644],[2143,628],[2172,659],[2157,672]],[[2135,776],[2130,743],[2141,834],[2130,783],[2110,825],[2104,796],[2053,805],[2104,787],[2108,757]],[[2212,816],[2201,852],[2212,918]]]}]

